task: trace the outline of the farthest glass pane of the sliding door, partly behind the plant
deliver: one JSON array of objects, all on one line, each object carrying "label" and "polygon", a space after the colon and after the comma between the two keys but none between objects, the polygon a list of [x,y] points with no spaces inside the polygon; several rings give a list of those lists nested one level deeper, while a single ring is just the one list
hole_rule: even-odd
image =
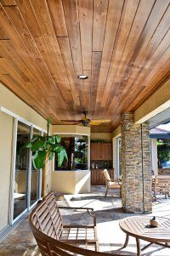
[{"label": "farthest glass pane of the sliding door, partly behind the plant", "polygon": [[[36,128],[33,128],[33,138],[40,135],[40,131]],[[37,202],[38,199],[38,185],[39,185],[39,170],[34,168],[33,162],[31,162],[31,201],[30,205],[32,205],[34,202]]]}]

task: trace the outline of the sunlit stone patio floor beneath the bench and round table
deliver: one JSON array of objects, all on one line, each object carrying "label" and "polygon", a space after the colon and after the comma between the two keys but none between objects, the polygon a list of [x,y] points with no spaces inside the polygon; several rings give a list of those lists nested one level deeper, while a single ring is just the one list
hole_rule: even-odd
[{"label": "sunlit stone patio floor beneath the bench and round table", "polygon": [[[114,195],[112,195],[114,192]],[[133,237],[129,239],[126,248],[120,250],[125,241],[125,234],[119,228],[119,220],[133,214],[124,213],[118,191],[111,191],[105,197],[105,186],[92,186],[91,193],[79,195],[65,195],[59,205],[70,207],[94,208],[97,218],[97,229],[99,236],[99,250],[101,252],[119,252],[120,255],[136,255],[136,241]],[[63,219],[66,223],[90,224],[87,213],[62,210]],[[135,214],[136,215],[136,214]],[[150,215],[170,218],[170,199],[160,197],[159,202],[153,203],[153,213]],[[141,247],[147,242],[141,241]],[[28,226],[28,217],[18,225],[11,234],[0,244],[1,256],[37,256],[36,242]],[[142,253],[144,256],[169,256],[170,249],[152,245]]]}]

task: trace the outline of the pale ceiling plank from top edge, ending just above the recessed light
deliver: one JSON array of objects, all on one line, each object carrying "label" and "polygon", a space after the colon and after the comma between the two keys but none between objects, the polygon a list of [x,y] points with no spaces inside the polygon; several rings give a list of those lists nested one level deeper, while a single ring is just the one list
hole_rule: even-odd
[{"label": "pale ceiling plank from top edge, ending just above the recessed light", "polygon": [[85,71],[92,69],[93,2],[91,0],[78,0],[78,15],[82,44],[82,70],[85,73]]}]

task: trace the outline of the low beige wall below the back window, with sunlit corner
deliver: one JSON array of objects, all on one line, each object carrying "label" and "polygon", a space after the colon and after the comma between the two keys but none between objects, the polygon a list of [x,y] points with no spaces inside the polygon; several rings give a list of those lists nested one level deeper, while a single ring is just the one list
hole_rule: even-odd
[{"label": "low beige wall below the back window, with sunlit corner", "polygon": [[65,194],[87,193],[90,191],[90,172],[52,171],[50,190]]}]

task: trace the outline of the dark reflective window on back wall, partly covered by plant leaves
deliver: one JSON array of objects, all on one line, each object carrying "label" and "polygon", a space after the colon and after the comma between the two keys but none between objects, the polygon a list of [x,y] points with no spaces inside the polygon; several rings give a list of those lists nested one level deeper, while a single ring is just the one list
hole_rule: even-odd
[{"label": "dark reflective window on back wall, partly covered by plant leaves", "polygon": [[61,168],[55,157],[55,170],[88,170],[88,136],[60,135],[61,145],[65,147],[68,161],[64,161]]}]

